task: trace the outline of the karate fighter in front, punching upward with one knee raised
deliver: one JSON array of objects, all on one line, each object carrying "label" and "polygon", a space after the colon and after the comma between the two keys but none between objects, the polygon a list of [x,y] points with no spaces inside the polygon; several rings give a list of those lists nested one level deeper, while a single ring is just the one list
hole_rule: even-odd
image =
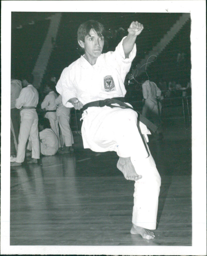
[{"label": "karate fighter in front, punching upward with one knee raised", "polygon": [[63,70],[56,90],[66,107],[83,107],[84,148],[116,151],[117,168],[126,179],[135,181],[130,232],[153,239],[151,230],[156,229],[161,178],[146,143],[150,132],[137,120],[137,112],[119,107],[116,101],[125,96],[124,79],[136,55],[135,40],[142,30],[142,24],[132,22],[128,35],[115,51],[102,54],[104,26],[97,21],[81,24],[78,44],[85,53]]}]

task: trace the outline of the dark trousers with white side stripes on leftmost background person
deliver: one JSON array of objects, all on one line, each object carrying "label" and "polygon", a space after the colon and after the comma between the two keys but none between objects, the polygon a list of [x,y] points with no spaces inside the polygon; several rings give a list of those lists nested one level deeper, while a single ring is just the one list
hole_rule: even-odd
[{"label": "dark trousers with white side stripes on leftmost background person", "polygon": [[19,136],[19,127],[20,127],[20,120],[19,120],[19,109],[11,109],[11,119],[10,119],[10,155],[17,155],[18,149],[18,136]]}]

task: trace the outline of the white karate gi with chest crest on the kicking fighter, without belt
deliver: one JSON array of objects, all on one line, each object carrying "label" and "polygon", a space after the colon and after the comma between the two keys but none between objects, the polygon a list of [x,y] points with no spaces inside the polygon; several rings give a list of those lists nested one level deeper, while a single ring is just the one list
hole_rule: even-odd
[{"label": "white karate gi with chest crest on the kicking fighter, without belt", "polygon": [[[123,38],[124,39],[124,38]],[[125,59],[122,41],[114,52],[101,54],[94,65],[83,56],[65,68],[56,90],[63,97],[63,104],[78,98],[83,104],[113,97],[124,97],[124,79],[136,55],[136,45]],[[135,181],[132,223],[147,229],[156,229],[158,196],[161,178],[149,148],[145,149],[147,127],[140,122],[145,144],[137,129],[137,113],[131,109],[89,107],[82,115],[84,148],[93,151],[116,151],[120,157],[131,157],[137,174]]]}]

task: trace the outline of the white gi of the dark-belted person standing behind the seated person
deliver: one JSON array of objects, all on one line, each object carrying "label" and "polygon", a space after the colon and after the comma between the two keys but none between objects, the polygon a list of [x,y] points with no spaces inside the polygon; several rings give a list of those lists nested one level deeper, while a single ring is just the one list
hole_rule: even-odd
[{"label": "white gi of the dark-belted person standing behind the seated person", "polygon": [[[55,103],[56,98],[57,98],[57,94],[54,91],[49,92],[48,95],[45,96],[45,99],[41,104],[41,108],[46,109],[46,111],[56,110],[56,103]],[[45,117],[49,119],[50,126],[52,130],[55,132],[55,134],[57,135],[59,147],[60,147],[61,144],[60,144],[60,136],[59,136],[59,128],[58,128],[58,120],[57,120],[56,112],[46,112]]]}]

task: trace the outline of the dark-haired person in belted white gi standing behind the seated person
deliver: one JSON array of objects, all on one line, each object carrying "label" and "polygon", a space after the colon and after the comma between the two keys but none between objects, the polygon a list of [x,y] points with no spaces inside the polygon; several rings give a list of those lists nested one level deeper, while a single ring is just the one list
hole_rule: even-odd
[{"label": "dark-haired person in belted white gi standing behind the seated person", "polygon": [[48,83],[45,86],[45,90],[44,90],[48,94],[45,96],[45,98],[41,104],[41,109],[46,110],[45,117],[49,119],[51,129],[57,135],[59,147],[61,147],[59,128],[58,128],[58,120],[57,120],[57,115],[56,115],[56,103],[55,103],[57,94],[54,92],[54,90],[55,90],[55,83],[53,81],[48,81]]}]

